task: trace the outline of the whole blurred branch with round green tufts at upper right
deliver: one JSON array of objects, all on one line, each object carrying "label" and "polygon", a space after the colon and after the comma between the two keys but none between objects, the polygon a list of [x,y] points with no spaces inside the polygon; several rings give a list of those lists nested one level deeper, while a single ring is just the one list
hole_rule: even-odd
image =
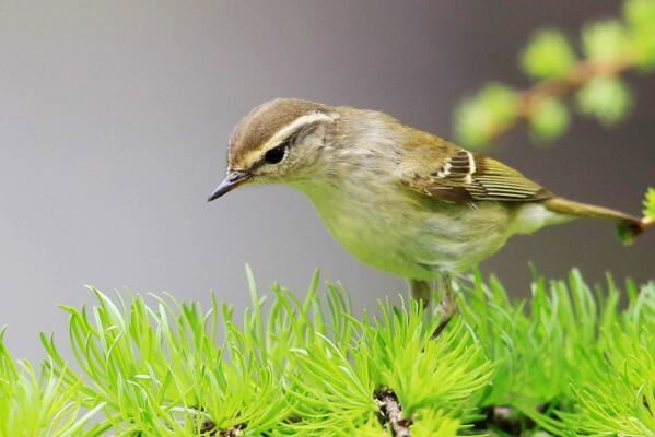
[{"label": "whole blurred branch with round green tufts at upper right", "polygon": [[[537,82],[527,90],[491,83],[465,98],[455,115],[458,140],[475,150],[490,147],[526,123],[535,140],[564,134],[572,108],[605,126],[621,121],[633,93],[624,73],[655,71],[655,0],[627,0],[622,17],[587,25],[582,57],[557,29],[538,31],[521,55],[523,71]],[[644,200],[644,227],[655,223],[655,190]]]}]

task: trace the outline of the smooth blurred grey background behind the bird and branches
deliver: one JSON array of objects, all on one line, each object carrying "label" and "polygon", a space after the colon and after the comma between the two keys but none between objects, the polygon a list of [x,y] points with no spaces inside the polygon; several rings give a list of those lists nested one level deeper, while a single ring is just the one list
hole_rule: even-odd
[{"label": "smooth blurred grey background behind the bird and branches", "polygon": [[[295,96],[383,109],[452,133],[460,98],[488,80],[527,85],[517,54],[545,25],[574,36],[620,2],[0,0],[0,326],[16,356],[39,331],[66,343],[59,304],[110,292],[209,291],[247,305],[244,263],[262,287],[305,290],[315,268],[355,307],[405,284],[361,264],[285,187],[206,199],[223,176],[233,126]],[[638,213],[655,184],[655,79],[613,130],[595,121],[549,150],[515,132],[492,154],[561,194]],[[655,276],[655,233],[624,248],[607,223],[522,237],[483,264],[515,295],[528,261],[552,276]]]}]

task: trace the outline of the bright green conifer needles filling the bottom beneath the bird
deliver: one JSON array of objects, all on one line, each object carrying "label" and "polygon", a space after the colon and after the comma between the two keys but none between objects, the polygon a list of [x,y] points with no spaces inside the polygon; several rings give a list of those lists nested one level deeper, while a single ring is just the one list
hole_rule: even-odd
[{"label": "bright green conifer needles filling the bottom beneath the bird", "polygon": [[416,302],[381,303],[379,316],[355,318],[346,292],[328,287],[319,296],[318,276],[312,284],[305,302],[276,287],[274,299],[247,311],[243,327],[213,299],[202,309],[153,296],[151,307],[140,296],[110,299],[95,291],[93,308],[65,307],[80,371],[43,336],[48,361],[39,375],[11,357],[0,329],[0,437],[655,428],[653,282],[629,281],[622,293],[608,280],[604,292],[574,271],[566,281],[537,277],[522,303],[478,274],[472,287],[458,284],[466,296],[460,315],[436,341],[440,320]]}]

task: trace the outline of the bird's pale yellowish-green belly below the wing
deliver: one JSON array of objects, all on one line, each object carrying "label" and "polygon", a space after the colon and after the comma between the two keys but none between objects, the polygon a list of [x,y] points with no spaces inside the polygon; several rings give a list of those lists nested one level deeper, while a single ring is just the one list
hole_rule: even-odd
[{"label": "bird's pale yellowish-green belly below the wing", "polygon": [[428,208],[401,194],[311,198],[352,255],[402,277],[431,280],[443,271],[467,270],[507,239],[506,211],[495,203],[482,211],[437,201]]}]

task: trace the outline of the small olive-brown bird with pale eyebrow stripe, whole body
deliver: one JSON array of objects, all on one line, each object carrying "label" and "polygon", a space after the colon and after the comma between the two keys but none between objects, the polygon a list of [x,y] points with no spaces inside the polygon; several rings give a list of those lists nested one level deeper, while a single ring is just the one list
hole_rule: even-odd
[{"label": "small olive-brown bird with pale eyebrow stripe, whole body", "polygon": [[428,302],[441,281],[443,319],[455,312],[451,275],[515,234],[577,217],[609,218],[631,238],[641,218],[555,196],[514,168],[375,110],[278,98],[235,128],[227,176],[209,201],[243,185],[304,192],[332,236],[367,264],[409,281]]}]

